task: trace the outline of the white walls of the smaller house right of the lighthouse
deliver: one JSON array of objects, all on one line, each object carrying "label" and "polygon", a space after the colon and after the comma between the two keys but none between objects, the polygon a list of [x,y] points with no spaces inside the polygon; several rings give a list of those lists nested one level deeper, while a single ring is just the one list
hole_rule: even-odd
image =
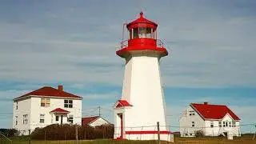
[{"label": "white walls of the smaller house right of the lighthouse", "polygon": [[[223,134],[224,132],[229,132],[229,134],[233,134],[233,136],[241,136],[239,122],[234,121],[230,114],[226,114],[226,116],[222,119],[207,119],[204,120],[202,117],[195,113],[195,115],[190,116],[189,111],[193,110],[191,106],[189,106],[182,114],[179,123],[180,123],[180,133],[182,137],[190,137],[194,136],[196,130],[203,130],[205,135],[207,136],[218,136]],[[218,122],[222,123],[222,126],[219,127]],[[195,122],[195,126],[191,127],[192,122]],[[213,122],[214,126],[211,127],[210,123]],[[223,122],[227,122],[228,126],[223,127]],[[232,122],[235,122],[235,126],[232,126]],[[231,123],[231,125],[229,124]],[[226,124],[225,124],[226,125]],[[198,127],[198,128],[197,128]],[[191,135],[192,134],[192,135]]]}]

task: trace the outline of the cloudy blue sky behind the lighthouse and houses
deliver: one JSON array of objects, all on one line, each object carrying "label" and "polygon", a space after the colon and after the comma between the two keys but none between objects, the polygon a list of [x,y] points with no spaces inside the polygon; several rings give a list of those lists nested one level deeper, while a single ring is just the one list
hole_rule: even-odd
[{"label": "cloudy blue sky behind the lighthouse and houses", "polygon": [[205,101],[255,123],[255,7],[254,0],[1,1],[0,127],[11,126],[12,98],[58,84],[82,95],[84,116],[102,106],[112,122],[124,72],[115,50],[122,23],[141,10],[170,52],[161,61],[168,124],[178,126],[190,102]]}]

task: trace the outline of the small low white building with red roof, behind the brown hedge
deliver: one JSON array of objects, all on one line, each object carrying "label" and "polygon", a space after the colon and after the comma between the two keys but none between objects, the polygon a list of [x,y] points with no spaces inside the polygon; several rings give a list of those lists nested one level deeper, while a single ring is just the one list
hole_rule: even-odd
[{"label": "small low white building with red roof, behind the brown hedge", "polygon": [[110,122],[107,122],[106,119],[100,116],[94,117],[85,117],[82,118],[82,126],[102,126],[102,125],[110,125]]}]

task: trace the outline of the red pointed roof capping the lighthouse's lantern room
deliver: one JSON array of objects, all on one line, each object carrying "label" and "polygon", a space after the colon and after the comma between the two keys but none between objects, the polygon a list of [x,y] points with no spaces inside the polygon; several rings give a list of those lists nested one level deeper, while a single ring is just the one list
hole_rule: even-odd
[{"label": "red pointed roof capping the lighthouse's lantern room", "polygon": [[141,12],[139,18],[137,18],[135,21],[130,22],[130,23],[127,24],[128,29],[138,27],[138,26],[149,26],[149,27],[152,27],[152,28],[156,29],[158,24],[144,18],[143,17],[143,12]]}]

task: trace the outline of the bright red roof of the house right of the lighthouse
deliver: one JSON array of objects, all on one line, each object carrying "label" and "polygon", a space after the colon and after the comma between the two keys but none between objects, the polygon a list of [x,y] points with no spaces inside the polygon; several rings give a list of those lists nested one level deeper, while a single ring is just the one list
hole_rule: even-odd
[{"label": "bright red roof of the house right of the lighthouse", "polygon": [[191,103],[190,106],[197,110],[205,119],[222,119],[226,114],[230,114],[234,120],[240,120],[227,106],[209,105],[206,102],[204,104]]}]

